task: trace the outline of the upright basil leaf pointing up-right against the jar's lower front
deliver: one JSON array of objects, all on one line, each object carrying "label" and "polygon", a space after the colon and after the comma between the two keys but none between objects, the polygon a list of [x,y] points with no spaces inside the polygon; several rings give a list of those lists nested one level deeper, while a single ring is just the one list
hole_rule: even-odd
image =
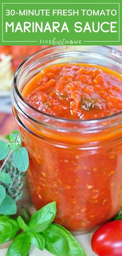
[{"label": "upright basil leaf pointing up-right against the jar's lower front", "polygon": [[56,203],[49,203],[32,215],[29,221],[29,228],[40,233],[49,227],[55,215]]}]

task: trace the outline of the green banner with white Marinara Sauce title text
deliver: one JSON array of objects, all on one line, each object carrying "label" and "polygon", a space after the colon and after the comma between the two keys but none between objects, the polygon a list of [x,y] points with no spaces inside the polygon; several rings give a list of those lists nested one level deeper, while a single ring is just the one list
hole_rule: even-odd
[{"label": "green banner with white Marinara Sauce title text", "polygon": [[120,1],[9,0],[2,1],[1,8],[1,45],[122,43]]}]

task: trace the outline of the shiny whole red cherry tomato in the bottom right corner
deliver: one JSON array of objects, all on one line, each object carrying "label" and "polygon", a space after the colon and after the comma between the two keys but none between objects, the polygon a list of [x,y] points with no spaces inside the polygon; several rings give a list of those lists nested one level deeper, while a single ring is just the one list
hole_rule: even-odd
[{"label": "shiny whole red cherry tomato in the bottom right corner", "polygon": [[100,227],[91,238],[91,247],[99,256],[122,256],[122,220]]}]

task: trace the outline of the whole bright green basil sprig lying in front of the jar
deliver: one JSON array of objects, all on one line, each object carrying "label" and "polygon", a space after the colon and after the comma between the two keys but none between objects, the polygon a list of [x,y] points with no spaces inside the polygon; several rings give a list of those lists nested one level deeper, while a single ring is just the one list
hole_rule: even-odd
[{"label": "whole bright green basil sprig lying in front of the jar", "polygon": [[[0,217],[0,243],[16,236],[6,256],[27,256],[30,245],[44,248],[55,256],[86,256],[83,248],[72,234],[59,224],[52,224],[56,215],[56,203],[52,202],[32,215],[28,223],[21,216],[17,221],[8,216]],[[41,255],[41,254],[40,254]]]}]

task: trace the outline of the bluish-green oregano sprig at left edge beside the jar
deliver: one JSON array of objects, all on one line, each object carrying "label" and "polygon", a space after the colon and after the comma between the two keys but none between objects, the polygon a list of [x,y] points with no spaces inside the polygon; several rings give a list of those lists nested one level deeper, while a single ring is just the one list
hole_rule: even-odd
[{"label": "bluish-green oregano sprig at left edge beside the jar", "polygon": [[29,160],[26,148],[22,147],[19,131],[12,131],[9,135],[6,135],[6,139],[8,142],[0,141],[0,160],[2,160],[0,165],[0,215],[13,215],[17,213],[17,206],[12,197],[6,193],[7,184],[12,184],[9,173],[5,172],[6,165],[8,166],[10,159],[11,166],[25,172]]}]

